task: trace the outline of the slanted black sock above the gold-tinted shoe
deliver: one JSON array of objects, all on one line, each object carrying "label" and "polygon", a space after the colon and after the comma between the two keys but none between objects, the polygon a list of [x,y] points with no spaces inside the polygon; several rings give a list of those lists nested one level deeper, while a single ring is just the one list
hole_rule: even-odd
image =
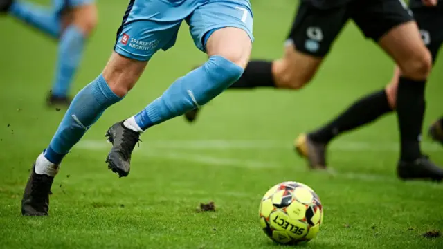
[{"label": "slanted black sock above the gold-tinted shoe", "polygon": [[390,111],[392,109],[389,106],[388,96],[382,89],[354,102],[332,122],[309,133],[309,138],[314,142],[328,143],[338,134],[368,124]]}]

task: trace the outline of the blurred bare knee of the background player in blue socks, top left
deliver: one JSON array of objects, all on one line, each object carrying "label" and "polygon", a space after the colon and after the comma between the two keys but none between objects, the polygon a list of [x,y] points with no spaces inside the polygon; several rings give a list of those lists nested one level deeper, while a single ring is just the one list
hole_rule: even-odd
[{"label": "blurred bare knee of the background player in blue socks, top left", "polygon": [[84,35],[90,35],[98,23],[98,12],[95,5],[81,6],[74,10],[73,23]]}]

